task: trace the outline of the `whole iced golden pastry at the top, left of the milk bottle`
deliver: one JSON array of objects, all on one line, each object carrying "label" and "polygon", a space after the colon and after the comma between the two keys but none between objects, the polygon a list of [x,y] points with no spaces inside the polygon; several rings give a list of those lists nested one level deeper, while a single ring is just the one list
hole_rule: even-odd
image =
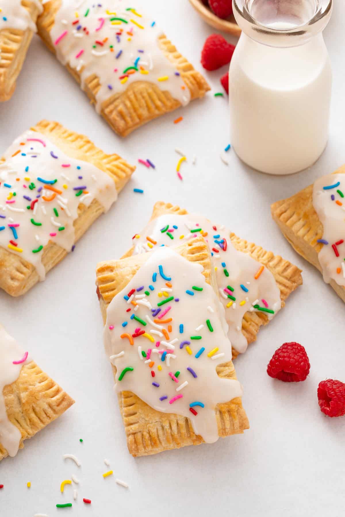
[{"label": "whole iced golden pastry at the top, left of the milk bottle", "polygon": [[154,19],[120,2],[87,0],[76,12],[72,0],[51,0],[37,27],[97,112],[121,136],[209,90]]}]

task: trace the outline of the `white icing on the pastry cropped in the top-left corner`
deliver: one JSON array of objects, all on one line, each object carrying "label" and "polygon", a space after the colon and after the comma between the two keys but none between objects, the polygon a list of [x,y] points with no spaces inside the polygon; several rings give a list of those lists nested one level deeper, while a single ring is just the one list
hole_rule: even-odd
[{"label": "white icing on the pastry cropped in the top-left corner", "polygon": [[[43,7],[39,0],[31,0],[31,3],[38,7],[39,12],[42,12]],[[5,28],[25,31],[28,27],[36,32],[36,24],[27,9],[22,6],[21,0],[1,0],[0,9],[0,31]]]}]

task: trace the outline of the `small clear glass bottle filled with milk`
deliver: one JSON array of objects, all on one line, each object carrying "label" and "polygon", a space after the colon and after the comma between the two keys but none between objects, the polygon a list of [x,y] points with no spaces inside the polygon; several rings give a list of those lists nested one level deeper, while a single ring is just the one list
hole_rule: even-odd
[{"label": "small clear glass bottle filled with milk", "polygon": [[233,0],[242,34],[229,70],[231,144],[252,168],[291,174],[328,139],[332,0]]}]

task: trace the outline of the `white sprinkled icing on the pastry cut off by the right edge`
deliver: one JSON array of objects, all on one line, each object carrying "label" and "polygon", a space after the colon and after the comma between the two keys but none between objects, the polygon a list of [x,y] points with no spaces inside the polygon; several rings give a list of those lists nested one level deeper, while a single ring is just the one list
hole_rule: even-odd
[{"label": "white sprinkled icing on the pastry cut off by the right edge", "polygon": [[339,192],[345,195],[344,174],[322,176],[314,183],[312,202],[323,224],[322,240],[328,243],[318,255],[323,279],[345,286],[345,200]]}]

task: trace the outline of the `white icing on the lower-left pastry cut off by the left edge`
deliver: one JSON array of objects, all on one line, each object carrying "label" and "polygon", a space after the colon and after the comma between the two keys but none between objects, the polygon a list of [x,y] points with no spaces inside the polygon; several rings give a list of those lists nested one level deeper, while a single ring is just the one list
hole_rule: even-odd
[{"label": "white icing on the lower-left pastry cut off by the left edge", "polygon": [[23,363],[13,364],[13,361],[22,360],[24,354],[17,341],[0,325],[0,443],[10,456],[17,454],[22,435],[7,417],[3,391],[5,386],[17,381],[23,364],[31,361],[27,357]]}]

